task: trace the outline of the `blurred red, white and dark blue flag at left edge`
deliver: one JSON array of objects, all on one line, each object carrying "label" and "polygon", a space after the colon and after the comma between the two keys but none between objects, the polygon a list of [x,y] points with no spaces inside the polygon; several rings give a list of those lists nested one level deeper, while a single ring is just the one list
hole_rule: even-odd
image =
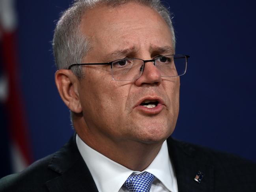
[{"label": "blurred red, white and dark blue flag at left edge", "polygon": [[0,176],[31,164],[32,147],[22,100],[15,0],[0,0]]}]

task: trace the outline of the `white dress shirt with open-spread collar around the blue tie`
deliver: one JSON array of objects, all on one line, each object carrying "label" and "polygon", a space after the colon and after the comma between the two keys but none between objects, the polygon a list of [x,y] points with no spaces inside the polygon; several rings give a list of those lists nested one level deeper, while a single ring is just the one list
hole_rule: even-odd
[{"label": "white dress shirt with open-spread collar around the blue tie", "polygon": [[77,147],[90,170],[99,192],[129,192],[123,186],[133,173],[147,171],[155,175],[150,192],[178,192],[178,185],[168,154],[167,142],[164,141],[159,153],[144,171],[130,170],[107,158],[76,137]]}]

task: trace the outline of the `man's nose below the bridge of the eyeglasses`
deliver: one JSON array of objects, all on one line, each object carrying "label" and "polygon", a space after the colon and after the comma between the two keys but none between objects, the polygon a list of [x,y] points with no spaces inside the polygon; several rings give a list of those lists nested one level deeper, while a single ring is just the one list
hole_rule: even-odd
[{"label": "man's nose below the bridge of the eyeglasses", "polygon": [[162,82],[160,71],[154,65],[153,62],[145,62],[144,70],[140,78],[135,81],[136,86],[142,86],[143,84],[159,85]]}]

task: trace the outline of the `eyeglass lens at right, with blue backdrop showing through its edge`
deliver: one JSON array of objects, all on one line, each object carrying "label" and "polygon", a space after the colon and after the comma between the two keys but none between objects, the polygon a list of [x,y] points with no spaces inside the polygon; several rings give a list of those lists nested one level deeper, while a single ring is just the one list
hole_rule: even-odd
[{"label": "eyeglass lens at right, with blue backdrop showing through its edge", "polygon": [[180,76],[186,73],[187,59],[185,55],[161,56],[155,59],[155,65],[163,77]]}]

